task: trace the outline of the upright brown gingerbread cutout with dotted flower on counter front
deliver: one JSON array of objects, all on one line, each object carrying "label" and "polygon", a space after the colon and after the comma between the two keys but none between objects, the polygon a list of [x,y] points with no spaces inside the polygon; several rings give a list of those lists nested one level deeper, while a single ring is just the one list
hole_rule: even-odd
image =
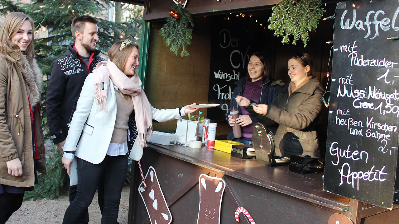
[{"label": "upright brown gingerbread cutout with dotted flower on counter front", "polygon": [[197,224],[219,224],[222,196],[226,183],[218,177],[199,175],[199,209]]}]

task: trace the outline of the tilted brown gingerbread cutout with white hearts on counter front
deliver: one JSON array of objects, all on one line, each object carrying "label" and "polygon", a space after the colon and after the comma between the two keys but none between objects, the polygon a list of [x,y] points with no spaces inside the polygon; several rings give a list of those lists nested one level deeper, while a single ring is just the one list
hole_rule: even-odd
[{"label": "tilted brown gingerbread cutout with white hearts on counter front", "polygon": [[[172,214],[166,204],[154,167],[148,168],[144,179],[145,182],[141,182],[138,186],[138,193],[146,206],[151,224],[170,224]],[[147,187],[144,187],[144,183],[147,184]]]}]

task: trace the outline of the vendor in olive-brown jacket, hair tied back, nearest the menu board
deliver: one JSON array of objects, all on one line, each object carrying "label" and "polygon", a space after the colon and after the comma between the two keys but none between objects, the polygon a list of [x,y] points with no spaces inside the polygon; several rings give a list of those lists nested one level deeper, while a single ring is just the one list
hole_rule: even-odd
[{"label": "vendor in olive-brown jacket, hair tied back, nearest the menu board", "polygon": [[280,90],[270,105],[250,106],[247,98],[236,98],[240,106],[267,126],[278,123],[275,134],[276,155],[312,155],[320,157],[316,128],[323,108],[324,89],[312,75],[312,60],[298,53],[288,60],[291,81]]}]

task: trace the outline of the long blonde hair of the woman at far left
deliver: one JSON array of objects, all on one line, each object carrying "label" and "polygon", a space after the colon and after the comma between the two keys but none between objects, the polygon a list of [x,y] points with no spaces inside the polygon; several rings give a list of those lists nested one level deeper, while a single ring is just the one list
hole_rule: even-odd
[{"label": "long blonde hair of the woman at far left", "polygon": [[[3,26],[0,30],[0,52],[7,55],[6,57],[11,61],[13,61],[13,59],[8,56],[10,52],[16,52],[20,57],[23,57],[20,47],[12,43],[11,37],[17,33],[25,20],[29,20],[33,31],[34,23],[32,18],[23,14],[22,12],[13,12],[8,15],[6,20],[4,20]],[[35,51],[33,47],[34,38],[34,35],[32,35],[32,41],[29,43],[26,51],[24,52],[24,54],[28,57],[29,62],[32,62],[35,57]]]}]

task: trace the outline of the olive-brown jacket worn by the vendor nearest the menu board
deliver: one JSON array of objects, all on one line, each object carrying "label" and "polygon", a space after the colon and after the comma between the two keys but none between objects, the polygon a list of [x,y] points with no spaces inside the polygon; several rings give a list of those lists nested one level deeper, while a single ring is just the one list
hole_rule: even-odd
[{"label": "olive-brown jacket worn by the vendor nearest the menu board", "polygon": [[288,97],[289,84],[278,90],[266,116],[255,113],[252,106],[245,109],[267,126],[279,124],[275,134],[276,155],[320,157],[316,128],[320,123],[324,88],[318,78],[313,78]]}]

